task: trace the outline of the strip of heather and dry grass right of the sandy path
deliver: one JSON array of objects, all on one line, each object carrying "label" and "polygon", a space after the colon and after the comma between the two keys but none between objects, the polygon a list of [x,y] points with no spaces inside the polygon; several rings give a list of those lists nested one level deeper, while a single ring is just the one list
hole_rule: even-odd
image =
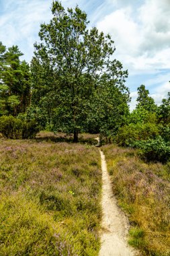
[{"label": "strip of heather and dry grass right of the sandy path", "polygon": [[135,150],[102,147],[113,191],[130,220],[129,244],[142,255],[170,255],[169,163],[146,164]]}]

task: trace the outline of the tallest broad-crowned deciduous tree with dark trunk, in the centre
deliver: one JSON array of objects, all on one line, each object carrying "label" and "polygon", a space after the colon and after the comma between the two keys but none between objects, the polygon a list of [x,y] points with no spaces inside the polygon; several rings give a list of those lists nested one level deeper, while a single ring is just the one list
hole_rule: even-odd
[{"label": "tallest broad-crowned deciduous tree with dark trunk, in the centre", "polygon": [[[35,44],[32,103],[42,108],[48,123],[52,121],[53,129],[73,132],[77,141],[89,113],[97,108],[93,104],[97,98],[103,99],[100,102],[103,106],[105,98],[114,106],[114,92],[118,98],[124,94],[127,106],[128,90],[123,86],[127,71],[122,71],[121,63],[112,59],[115,49],[110,35],[104,36],[95,27],[87,28],[87,15],[78,6],[66,11],[60,2],[53,1],[52,15],[49,24],[41,24],[41,42]],[[105,97],[98,94],[105,94]],[[104,108],[100,109],[104,112]],[[117,115],[117,120],[124,110],[122,108],[121,112],[120,106],[117,114],[110,111],[112,114]],[[103,124],[103,115],[105,113],[94,120],[102,119]]]}]

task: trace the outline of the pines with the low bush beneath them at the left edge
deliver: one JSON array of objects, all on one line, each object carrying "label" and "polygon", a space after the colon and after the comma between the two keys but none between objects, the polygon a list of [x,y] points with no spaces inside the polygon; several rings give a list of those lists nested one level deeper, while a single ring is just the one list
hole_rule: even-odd
[{"label": "pines with the low bush beneath them at the left edge", "polygon": [[28,117],[31,104],[30,66],[19,58],[18,46],[8,49],[0,42],[0,131],[11,139],[35,137],[38,123]]}]

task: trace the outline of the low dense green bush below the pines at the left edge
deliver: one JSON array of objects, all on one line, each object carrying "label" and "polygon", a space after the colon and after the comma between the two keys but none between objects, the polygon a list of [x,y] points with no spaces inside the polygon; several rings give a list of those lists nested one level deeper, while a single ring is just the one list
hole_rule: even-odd
[{"label": "low dense green bush below the pines at the left edge", "polygon": [[12,116],[0,117],[0,132],[10,139],[30,139],[36,136],[39,129],[35,121],[27,121]]}]

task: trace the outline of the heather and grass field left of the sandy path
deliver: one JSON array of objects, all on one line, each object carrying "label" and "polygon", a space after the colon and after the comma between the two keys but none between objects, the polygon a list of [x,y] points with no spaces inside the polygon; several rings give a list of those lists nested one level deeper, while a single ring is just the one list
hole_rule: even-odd
[{"label": "heather and grass field left of the sandy path", "polygon": [[97,148],[1,139],[0,255],[97,255]]}]

